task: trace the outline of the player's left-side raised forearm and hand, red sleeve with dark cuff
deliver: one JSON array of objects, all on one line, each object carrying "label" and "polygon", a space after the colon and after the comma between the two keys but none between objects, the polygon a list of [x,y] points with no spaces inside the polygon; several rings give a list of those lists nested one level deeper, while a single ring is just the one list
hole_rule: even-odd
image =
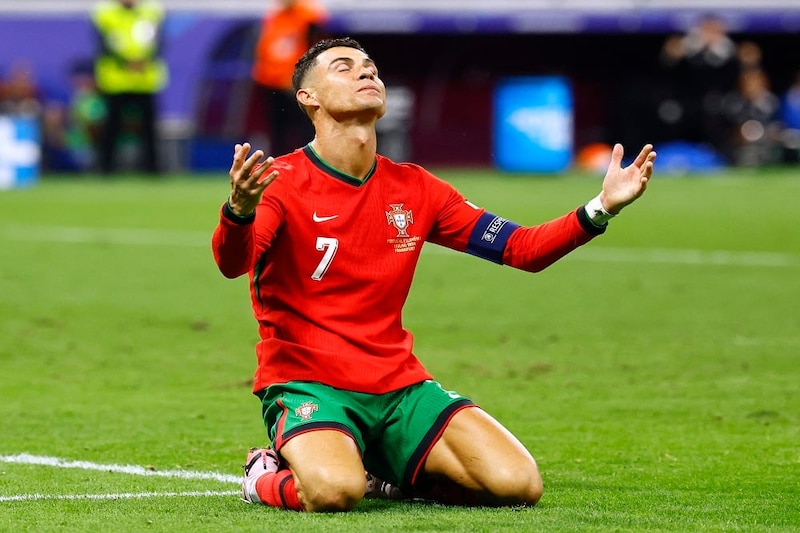
[{"label": "player's left-side raised forearm and hand, red sleeve with dark cuff", "polygon": [[[267,187],[278,177],[278,171],[267,171],[273,163],[269,157],[259,161],[264,152],[250,155],[250,144],[237,144],[229,172],[231,192],[222,206],[220,222],[214,230],[211,248],[214,260],[225,277],[235,278],[250,271],[259,253],[256,245],[256,207]],[[264,175],[266,177],[264,177]]]}]

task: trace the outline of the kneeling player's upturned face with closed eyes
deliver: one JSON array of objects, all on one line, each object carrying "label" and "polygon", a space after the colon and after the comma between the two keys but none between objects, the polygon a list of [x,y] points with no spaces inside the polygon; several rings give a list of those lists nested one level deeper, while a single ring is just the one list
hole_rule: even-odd
[{"label": "kneeling player's upturned face with closed eyes", "polygon": [[331,116],[386,112],[386,87],[378,67],[364,52],[349,47],[325,50],[317,57],[311,76],[311,92]]}]

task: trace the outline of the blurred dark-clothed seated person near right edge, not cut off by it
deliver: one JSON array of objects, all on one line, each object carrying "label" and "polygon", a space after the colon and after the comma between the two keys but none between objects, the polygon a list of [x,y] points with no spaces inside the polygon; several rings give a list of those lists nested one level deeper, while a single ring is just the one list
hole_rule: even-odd
[{"label": "blurred dark-clothed seated person near right edge, not cut off by it", "polygon": [[780,99],[764,70],[743,69],[736,89],[723,99],[723,110],[733,126],[726,147],[732,163],[755,167],[780,161]]}]

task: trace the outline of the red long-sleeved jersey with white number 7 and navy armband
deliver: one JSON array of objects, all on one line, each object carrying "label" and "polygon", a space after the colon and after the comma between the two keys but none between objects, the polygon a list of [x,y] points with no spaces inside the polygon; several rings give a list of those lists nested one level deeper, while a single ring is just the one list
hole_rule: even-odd
[{"label": "red long-sleeved jersey with white number 7 and navy armband", "polygon": [[426,241],[540,270],[604,229],[593,230],[582,208],[522,228],[422,167],[380,155],[364,181],[310,146],[273,168],[280,175],[255,216],[223,205],[212,238],[223,274],[250,275],[261,337],[254,391],[315,381],[379,394],[431,379],[401,322]]}]

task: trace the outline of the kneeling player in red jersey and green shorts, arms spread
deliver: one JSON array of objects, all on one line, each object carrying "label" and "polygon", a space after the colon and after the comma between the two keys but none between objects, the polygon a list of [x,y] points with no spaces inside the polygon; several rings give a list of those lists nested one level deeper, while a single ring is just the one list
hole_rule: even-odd
[{"label": "kneeling player in red jersey and green shorts, arms spread", "polygon": [[243,499],[306,511],[347,511],[376,495],[536,504],[542,480],[528,450],[414,355],[401,323],[414,269],[425,242],[547,267],[644,192],[653,147],[622,168],[615,146],[597,197],[525,227],[376,153],[386,91],[358,42],[317,43],[293,84],[314,140],[266,159],[237,144],[212,237],[226,277],[249,273],[261,337],[253,391],[272,444],[247,455]]}]

